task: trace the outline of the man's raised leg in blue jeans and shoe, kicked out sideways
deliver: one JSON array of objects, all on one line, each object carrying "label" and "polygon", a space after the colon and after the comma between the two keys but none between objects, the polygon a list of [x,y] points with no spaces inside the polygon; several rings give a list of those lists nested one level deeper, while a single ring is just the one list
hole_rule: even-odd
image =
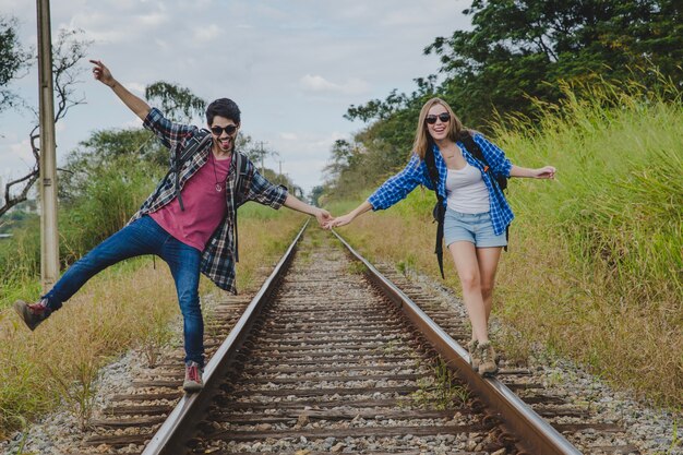
[{"label": "man's raised leg in blue jeans and shoe, kicked out sideways", "polygon": [[93,276],[128,258],[158,251],[163,229],[144,216],[119,230],[76,261],[37,303],[14,302],[14,310],[32,331],[59,310]]}]

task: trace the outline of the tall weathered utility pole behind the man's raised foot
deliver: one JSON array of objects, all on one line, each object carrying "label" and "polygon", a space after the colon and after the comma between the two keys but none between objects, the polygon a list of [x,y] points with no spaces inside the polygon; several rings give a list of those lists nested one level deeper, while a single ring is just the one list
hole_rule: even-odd
[{"label": "tall weathered utility pole behind the man's raised foot", "polygon": [[38,83],[40,109],[40,279],[47,291],[59,276],[57,235],[57,153],[52,88],[50,2],[36,0],[38,12]]}]

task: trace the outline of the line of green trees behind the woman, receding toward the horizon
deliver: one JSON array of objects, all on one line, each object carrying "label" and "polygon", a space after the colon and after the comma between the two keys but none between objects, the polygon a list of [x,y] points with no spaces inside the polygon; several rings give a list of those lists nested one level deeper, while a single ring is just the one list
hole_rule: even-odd
[{"label": "line of green trees behind the woman, receding toward the horizon", "polygon": [[[436,37],[426,55],[438,74],[416,80],[409,94],[350,106],[346,118],[367,127],[337,141],[327,181],[315,196],[348,199],[406,163],[418,112],[432,96],[445,99],[464,123],[491,133],[510,115],[531,120],[544,106],[601,84],[637,81],[645,91],[683,83],[683,4],[676,0],[476,0],[464,11],[471,31]],[[590,92],[588,89],[588,92]],[[588,93],[588,95],[590,95]]]}]

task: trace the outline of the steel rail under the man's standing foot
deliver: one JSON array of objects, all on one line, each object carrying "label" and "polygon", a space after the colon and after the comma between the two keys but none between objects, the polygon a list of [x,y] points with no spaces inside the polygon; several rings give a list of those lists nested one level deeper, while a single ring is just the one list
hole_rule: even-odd
[{"label": "steel rail under the man's standing foot", "polygon": [[192,431],[192,429],[189,428],[190,426],[185,424],[185,422],[192,421],[194,416],[202,414],[208,405],[212,397],[211,390],[221,380],[225,372],[229,369],[231,360],[239,352],[249,330],[261,312],[261,308],[273,294],[273,290],[276,289],[278,279],[291,262],[295,247],[308,227],[309,220],[307,220],[299,230],[297,237],[273,270],[273,273],[271,273],[259,292],[244,310],[244,313],[242,313],[235,324],[235,327],[232,327],[232,331],[230,331],[228,337],[223,342],[218,350],[216,350],[206,364],[203,375],[204,388],[199,393],[185,394],[180,398],[180,402],[178,402],[171,414],[146,445],[142,455],[173,455],[179,453],[178,447],[182,444],[184,439],[190,436],[190,432]]}]

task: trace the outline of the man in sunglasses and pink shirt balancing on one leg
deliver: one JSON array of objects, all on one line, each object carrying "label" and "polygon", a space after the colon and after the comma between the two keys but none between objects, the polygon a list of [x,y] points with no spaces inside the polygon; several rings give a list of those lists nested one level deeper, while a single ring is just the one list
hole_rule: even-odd
[{"label": "man in sunglasses and pink shirt balancing on one leg", "polygon": [[[200,134],[196,127],[172,123],[156,108],[130,93],[101,61],[91,60],[96,80],[110,87],[144,127],[170,149],[171,159]],[[183,388],[203,387],[204,323],[199,299],[200,271],[221,289],[237,292],[236,211],[247,201],[279,208],[280,205],[314,215],[321,226],[332,217],[272,184],[253,164],[245,161],[237,173],[235,140],[240,128],[240,110],[232,100],[220,98],[206,108],[212,140],[196,148],[180,169],[171,171],[133,215],[129,224],[74,263],[40,301],[22,300],[14,309],[33,331],[61,308],[91,277],[128,258],[156,254],[168,263],[176,283],[183,316],[185,379]],[[195,137],[196,139],[196,137]],[[247,159],[241,157],[241,159]],[[236,183],[239,188],[236,188]]]}]

